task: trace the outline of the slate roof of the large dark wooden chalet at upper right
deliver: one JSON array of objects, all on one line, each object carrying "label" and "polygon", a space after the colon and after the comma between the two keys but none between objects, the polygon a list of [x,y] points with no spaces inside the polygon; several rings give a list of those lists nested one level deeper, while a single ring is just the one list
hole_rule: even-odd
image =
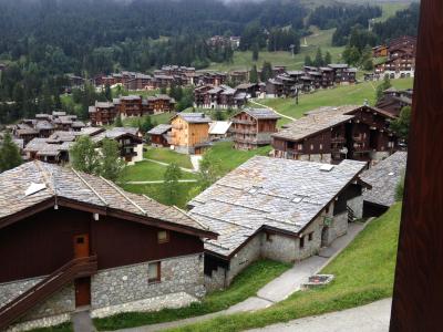
[{"label": "slate roof of the large dark wooden chalet at upper right", "polygon": [[309,115],[285,125],[285,128],[274,134],[272,137],[291,141],[302,139],[353,118],[354,115],[344,115],[343,113],[358,107],[359,106],[321,107],[311,111]]}]

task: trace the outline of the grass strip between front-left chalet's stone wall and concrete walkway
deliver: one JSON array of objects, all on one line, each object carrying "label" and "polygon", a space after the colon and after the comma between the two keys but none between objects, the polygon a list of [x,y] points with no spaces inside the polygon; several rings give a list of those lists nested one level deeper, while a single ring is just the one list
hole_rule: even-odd
[{"label": "grass strip between front-left chalet's stone wall and concrete walkway", "polygon": [[182,309],[164,309],[157,312],[121,313],[104,319],[95,319],[94,325],[99,331],[117,330],[175,321],[225,310],[233,304],[255,295],[261,287],[289,268],[290,264],[260,260],[254,262],[240,272],[228,289],[209,293],[202,302],[195,302]]}]

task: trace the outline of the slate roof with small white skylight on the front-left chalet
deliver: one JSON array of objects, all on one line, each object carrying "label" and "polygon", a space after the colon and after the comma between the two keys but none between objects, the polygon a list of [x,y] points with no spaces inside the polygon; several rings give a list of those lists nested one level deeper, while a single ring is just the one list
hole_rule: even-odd
[{"label": "slate roof with small white skylight on the front-left chalet", "polygon": [[[45,187],[27,196],[24,193],[32,183],[43,184]],[[215,237],[206,226],[177,208],[164,206],[146,196],[123,191],[102,177],[38,160],[0,174],[0,221],[55,197],[59,201],[65,198],[79,204],[115,209],[141,216],[146,220],[162,220],[164,225],[177,225],[198,231],[202,236]]]}]

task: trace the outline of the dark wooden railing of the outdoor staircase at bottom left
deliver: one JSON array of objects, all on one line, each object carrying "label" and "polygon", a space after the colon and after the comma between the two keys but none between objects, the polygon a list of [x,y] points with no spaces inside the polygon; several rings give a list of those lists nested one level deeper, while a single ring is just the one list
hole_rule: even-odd
[{"label": "dark wooden railing of the outdoor staircase at bottom left", "polygon": [[66,283],[97,271],[96,256],[76,258],[0,308],[0,331],[41,303]]}]

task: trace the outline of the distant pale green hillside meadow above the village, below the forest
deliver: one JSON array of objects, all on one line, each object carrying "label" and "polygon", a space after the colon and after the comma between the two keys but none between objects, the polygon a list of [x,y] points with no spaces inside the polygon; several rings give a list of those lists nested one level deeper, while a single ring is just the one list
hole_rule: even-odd
[{"label": "distant pale green hillside meadow above the village, below the forest", "polygon": [[[296,54],[292,59],[289,52],[267,52],[262,51],[259,53],[259,59],[257,62],[253,61],[253,53],[247,52],[235,52],[233,63],[212,63],[208,68],[209,70],[217,71],[231,71],[231,70],[250,70],[253,64],[257,68],[261,68],[264,61],[270,61],[272,65],[287,65],[290,70],[299,70],[305,64],[305,56],[310,55],[315,58],[317,48],[321,48],[322,52],[329,51],[332,55],[334,62],[340,62],[341,52],[344,48],[333,48],[331,45],[331,39],[334,29],[331,30],[318,30],[317,28],[311,28],[312,34],[307,37],[307,48],[301,48],[300,53]],[[303,43],[303,40],[301,40]]]}]

